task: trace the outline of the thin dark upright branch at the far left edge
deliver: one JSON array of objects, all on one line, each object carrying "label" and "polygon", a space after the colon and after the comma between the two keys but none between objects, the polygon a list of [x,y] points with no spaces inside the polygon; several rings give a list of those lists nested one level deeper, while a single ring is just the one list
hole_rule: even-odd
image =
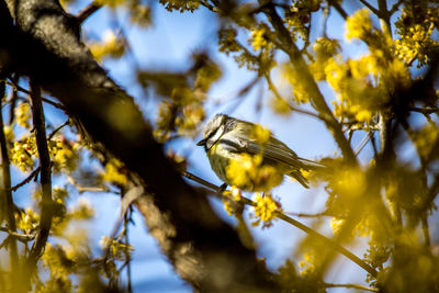
[{"label": "thin dark upright branch at the far left edge", "polygon": [[[0,195],[3,196],[3,201],[1,201],[4,206],[0,209],[5,212],[8,219],[8,228],[14,233],[16,229],[15,216],[14,216],[14,203],[11,192],[11,170],[10,170],[10,160],[8,156],[8,142],[4,135],[4,122],[3,122],[3,112],[2,109],[2,98],[5,94],[4,82],[0,82],[0,148],[1,148],[1,173],[2,173],[2,182],[0,188]],[[3,216],[3,215],[1,215]],[[16,243],[15,239],[9,241],[10,249],[10,258],[11,258],[11,269],[12,271],[18,270],[19,264],[19,256],[16,251]]]}]

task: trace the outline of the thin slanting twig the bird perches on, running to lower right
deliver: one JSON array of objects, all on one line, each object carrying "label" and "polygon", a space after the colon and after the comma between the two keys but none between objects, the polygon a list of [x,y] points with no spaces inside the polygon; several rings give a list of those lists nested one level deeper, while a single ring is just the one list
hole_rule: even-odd
[{"label": "thin slanting twig the bird perches on, running to lower right", "polygon": [[[215,184],[212,184],[211,182],[205,181],[204,179],[201,179],[201,178],[199,178],[199,177],[196,177],[196,176],[194,176],[194,174],[192,174],[192,173],[190,173],[188,171],[183,171],[182,176],[184,176],[185,178],[198,182],[199,184],[202,184],[202,185],[213,190],[215,192],[216,196],[223,198],[223,192],[224,192],[223,188],[217,187]],[[256,202],[254,202],[254,201],[251,201],[251,200],[249,200],[247,198],[244,198],[244,196],[241,198],[240,202],[243,204],[250,205],[250,206],[256,206],[257,205]],[[344,255],[345,257],[350,259],[352,262],[354,262],[356,264],[358,264],[359,267],[364,269],[367,272],[369,272],[372,277],[376,277],[376,271],[372,267],[370,267],[368,263],[365,263],[363,260],[361,260],[359,257],[357,257],[356,255],[350,252],[348,249],[346,249],[345,247],[342,247],[338,243],[336,243],[336,241],[323,236],[318,232],[309,228],[308,226],[300,223],[299,221],[295,221],[295,219],[289,217],[288,215],[285,215],[282,212],[278,211],[278,212],[275,212],[275,215],[277,215],[278,218],[280,218],[280,219],[293,225],[294,227],[305,232],[311,237],[314,237],[315,239],[318,239],[318,240],[325,243],[328,246],[328,248],[331,248],[331,249],[340,252],[341,255]]]}]

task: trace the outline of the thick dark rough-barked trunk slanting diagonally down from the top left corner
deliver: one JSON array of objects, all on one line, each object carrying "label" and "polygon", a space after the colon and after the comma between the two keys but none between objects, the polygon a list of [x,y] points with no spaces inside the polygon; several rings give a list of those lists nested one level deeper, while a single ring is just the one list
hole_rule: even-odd
[{"label": "thick dark rough-barked trunk slanting diagonally down from the top left corner", "polygon": [[173,169],[133,99],[94,61],[76,19],[57,1],[0,0],[0,69],[41,84],[146,183],[137,207],[184,280],[205,292],[278,291],[255,251]]}]

